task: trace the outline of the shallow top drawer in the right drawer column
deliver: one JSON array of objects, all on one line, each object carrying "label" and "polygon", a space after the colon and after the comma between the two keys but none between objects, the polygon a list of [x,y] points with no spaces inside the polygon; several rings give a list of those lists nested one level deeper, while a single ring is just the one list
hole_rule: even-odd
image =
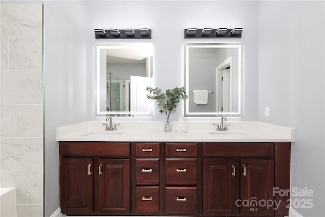
[{"label": "shallow top drawer in the right drawer column", "polygon": [[166,143],[166,157],[197,157],[197,143]]}]

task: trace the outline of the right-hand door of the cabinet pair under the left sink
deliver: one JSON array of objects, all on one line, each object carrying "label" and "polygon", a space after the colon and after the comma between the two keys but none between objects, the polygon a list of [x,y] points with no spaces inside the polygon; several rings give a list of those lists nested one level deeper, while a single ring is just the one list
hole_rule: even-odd
[{"label": "right-hand door of the cabinet pair under the left sink", "polygon": [[99,212],[130,213],[130,160],[99,159]]}]

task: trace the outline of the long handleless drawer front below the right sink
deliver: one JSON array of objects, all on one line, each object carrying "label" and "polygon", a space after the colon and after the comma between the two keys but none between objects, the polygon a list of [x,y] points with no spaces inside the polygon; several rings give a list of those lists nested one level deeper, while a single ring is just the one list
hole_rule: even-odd
[{"label": "long handleless drawer front below the right sink", "polygon": [[274,157],[273,142],[204,142],[204,157]]}]

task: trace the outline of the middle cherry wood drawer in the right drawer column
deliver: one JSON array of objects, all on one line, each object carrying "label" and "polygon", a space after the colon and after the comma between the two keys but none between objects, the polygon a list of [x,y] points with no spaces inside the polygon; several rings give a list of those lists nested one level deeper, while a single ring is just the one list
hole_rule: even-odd
[{"label": "middle cherry wood drawer in the right drawer column", "polygon": [[168,158],[165,162],[166,185],[196,185],[196,158]]}]

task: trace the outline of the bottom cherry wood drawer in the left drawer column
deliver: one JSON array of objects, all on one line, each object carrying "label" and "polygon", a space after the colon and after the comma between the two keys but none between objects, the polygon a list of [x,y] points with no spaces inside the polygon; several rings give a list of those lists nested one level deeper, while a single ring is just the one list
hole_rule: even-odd
[{"label": "bottom cherry wood drawer in the left drawer column", "polygon": [[159,187],[136,187],[136,212],[158,213],[160,207]]}]

